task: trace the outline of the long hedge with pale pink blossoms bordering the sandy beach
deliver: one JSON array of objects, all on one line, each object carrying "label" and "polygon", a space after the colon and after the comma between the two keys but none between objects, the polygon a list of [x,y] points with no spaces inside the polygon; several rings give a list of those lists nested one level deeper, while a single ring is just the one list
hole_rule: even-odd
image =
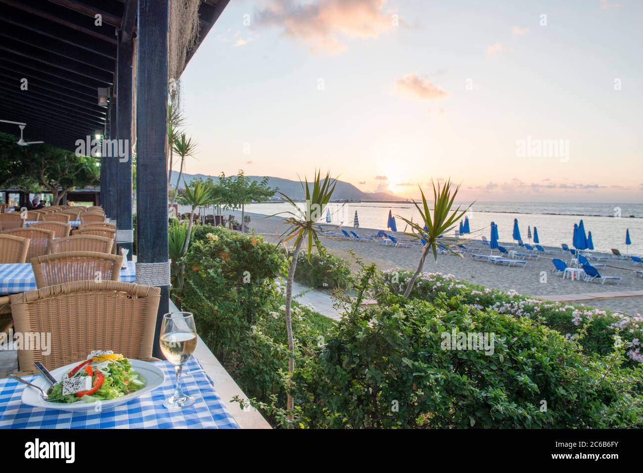
[{"label": "long hedge with pale pink blossoms bordering the sandy beach", "polygon": [[[410,281],[411,272],[392,269],[383,272],[383,279],[392,292],[403,293]],[[568,339],[575,339],[583,326],[588,324],[581,345],[587,353],[611,353],[615,328],[628,344],[627,356],[632,362],[643,362],[640,353],[643,340],[643,319],[640,315],[628,316],[566,302],[550,302],[520,295],[514,290],[501,291],[478,284],[458,281],[452,274],[422,273],[418,277],[411,297],[434,301],[455,295],[477,309],[498,311],[501,314],[529,319],[556,329]]]}]

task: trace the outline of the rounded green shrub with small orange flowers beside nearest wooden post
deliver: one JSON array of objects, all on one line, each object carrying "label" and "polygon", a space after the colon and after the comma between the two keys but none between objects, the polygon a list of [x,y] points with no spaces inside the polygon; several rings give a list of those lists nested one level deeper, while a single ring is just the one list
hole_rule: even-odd
[{"label": "rounded green shrub with small orange flowers beside nearest wooden post", "polygon": [[275,293],[285,259],[260,236],[209,225],[197,225],[193,236],[185,283],[176,297],[182,310],[194,313],[204,342],[226,364]]}]

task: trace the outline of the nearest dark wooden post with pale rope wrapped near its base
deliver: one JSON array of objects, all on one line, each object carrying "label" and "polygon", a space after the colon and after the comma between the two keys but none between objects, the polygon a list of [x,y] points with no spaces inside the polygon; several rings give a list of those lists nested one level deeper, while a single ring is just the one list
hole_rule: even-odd
[{"label": "nearest dark wooden post with pale rope wrapped near its base", "polygon": [[136,282],[161,288],[154,356],[169,311],[167,101],[169,0],[139,0],[136,47]]}]

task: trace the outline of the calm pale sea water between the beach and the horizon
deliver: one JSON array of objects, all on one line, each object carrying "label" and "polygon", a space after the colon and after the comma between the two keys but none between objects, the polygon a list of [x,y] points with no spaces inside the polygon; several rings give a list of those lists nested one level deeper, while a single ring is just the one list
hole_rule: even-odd
[{"label": "calm pale sea water between the beach and the horizon", "polygon": [[[246,211],[257,214],[276,214],[289,210],[285,203],[257,203],[246,206]],[[302,203],[303,208],[303,203]],[[615,209],[616,208],[616,209]],[[412,203],[331,203],[331,223],[352,227],[355,212],[358,212],[359,226],[386,230],[388,210],[392,210],[397,222],[397,230],[404,230],[404,222],[397,218],[419,221],[419,213]],[[614,218],[618,214],[620,218]],[[532,203],[532,202],[476,202],[469,211],[470,237],[489,238],[489,225],[498,225],[500,241],[512,241],[514,218],[518,219],[520,234],[527,242],[527,226],[538,227],[538,237],[542,245],[572,246],[574,223],[582,218],[586,231],[592,232],[594,248],[610,251],[618,248],[625,253],[625,232],[629,228],[629,254],[643,253],[643,204],[597,204],[597,203]],[[635,218],[629,218],[630,215]],[[325,222],[325,218],[321,219]]]}]

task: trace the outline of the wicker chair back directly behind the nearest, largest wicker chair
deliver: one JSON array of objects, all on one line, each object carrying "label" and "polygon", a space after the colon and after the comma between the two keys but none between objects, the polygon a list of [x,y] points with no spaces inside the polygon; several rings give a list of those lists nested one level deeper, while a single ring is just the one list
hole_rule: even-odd
[{"label": "wicker chair back directly behind the nearest, largest wicker chair", "polygon": [[54,284],[73,281],[95,280],[118,281],[123,257],[91,251],[55,253],[32,258],[36,287],[44,288]]}]

